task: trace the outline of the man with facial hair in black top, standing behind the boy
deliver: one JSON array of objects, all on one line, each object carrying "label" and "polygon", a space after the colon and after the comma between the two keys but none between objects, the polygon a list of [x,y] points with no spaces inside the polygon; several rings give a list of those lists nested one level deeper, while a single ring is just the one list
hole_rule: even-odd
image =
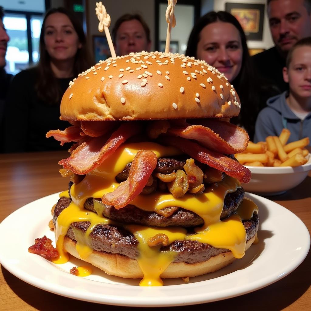
[{"label": "man with facial hair in black top, standing behind the boy", "polygon": [[268,83],[288,90],[282,71],[290,48],[311,35],[311,0],[267,0],[267,13],[274,47],[252,57],[256,72]]}]

